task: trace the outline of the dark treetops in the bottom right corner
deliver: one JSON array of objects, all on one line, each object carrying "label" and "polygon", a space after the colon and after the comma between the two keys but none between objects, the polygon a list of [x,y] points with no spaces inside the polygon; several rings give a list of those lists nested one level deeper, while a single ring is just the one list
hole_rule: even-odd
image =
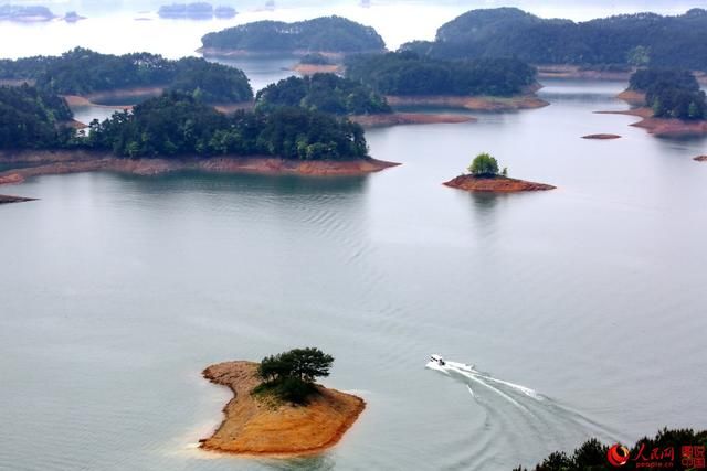
[{"label": "dark treetops in the bottom right corner", "polygon": [[[672,463],[664,468],[669,469],[696,469],[697,467],[682,465],[682,447],[707,447],[707,430],[695,432],[692,429],[674,429],[667,428],[661,430],[655,438],[644,437],[633,446],[630,450],[630,460],[621,467],[625,470],[634,470],[639,468],[636,464],[645,464],[642,458],[650,458],[653,450],[657,449],[661,456],[664,450],[673,448],[673,458],[664,457],[656,459],[656,462]],[[563,451],[556,451],[546,458],[540,464],[535,467],[535,471],[584,471],[584,470],[615,470],[609,463],[606,454],[609,447],[602,445],[595,438],[584,442],[580,448],[574,450],[572,454]],[[656,453],[657,454],[657,453]],[[636,459],[636,460],[634,460]],[[514,471],[528,471],[527,468],[518,467]]]}]

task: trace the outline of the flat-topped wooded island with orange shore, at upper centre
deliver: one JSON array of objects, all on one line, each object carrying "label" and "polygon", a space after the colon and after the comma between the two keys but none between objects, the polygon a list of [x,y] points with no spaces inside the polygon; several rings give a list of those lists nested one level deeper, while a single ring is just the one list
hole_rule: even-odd
[{"label": "flat-topped wooded island with orange shore, at upper centre", "polygon": [[347,57],[346,76],[384,95],[392,106],[503,111],[548,103],[535,90],[537,71],[515,58],[447,61],[403,51]]}]

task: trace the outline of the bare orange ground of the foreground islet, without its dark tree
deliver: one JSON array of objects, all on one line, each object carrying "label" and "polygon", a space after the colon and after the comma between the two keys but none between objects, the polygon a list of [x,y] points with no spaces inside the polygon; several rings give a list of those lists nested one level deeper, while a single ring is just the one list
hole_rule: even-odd
[{"label": "bare orange ground of the foreground islet, without its dark tree", "polygon": [[317,386],[305,406],[273,405],[251,395],[260,384],[257,363],[228,362],[209,366],[203,376],[234,395],[223,408],[224,419],[205,450],[251,457],[302,457],[319,453],[341,440],[366,408],[360,397]]}]

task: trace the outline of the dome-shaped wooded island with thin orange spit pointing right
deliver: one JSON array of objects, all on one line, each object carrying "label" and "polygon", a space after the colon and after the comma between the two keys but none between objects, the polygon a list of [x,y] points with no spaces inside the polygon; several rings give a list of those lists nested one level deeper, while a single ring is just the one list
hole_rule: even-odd
[{"label": "dome-shaped wooded island with thin orange spit pointing right", "polygon": [[255,98],[255,108],[258,110],[292,106],[347,116],[351,121],[367,127],[466,122],[474,119],[463,115],[393,113],[386,97],[370,86],[335,74],[288,77],[263,88]]}]

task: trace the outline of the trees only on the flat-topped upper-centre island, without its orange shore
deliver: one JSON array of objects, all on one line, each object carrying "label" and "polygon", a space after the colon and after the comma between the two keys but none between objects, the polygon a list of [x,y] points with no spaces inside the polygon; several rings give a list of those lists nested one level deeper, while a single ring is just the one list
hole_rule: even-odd
[{"label": "trees only on the flat-topped upper-centre island, without its orange shore", "polygon": [[516,58],[446,61],[405,51],[347,58],[346,76],[383,95],[519,94],[536,69]]}]

